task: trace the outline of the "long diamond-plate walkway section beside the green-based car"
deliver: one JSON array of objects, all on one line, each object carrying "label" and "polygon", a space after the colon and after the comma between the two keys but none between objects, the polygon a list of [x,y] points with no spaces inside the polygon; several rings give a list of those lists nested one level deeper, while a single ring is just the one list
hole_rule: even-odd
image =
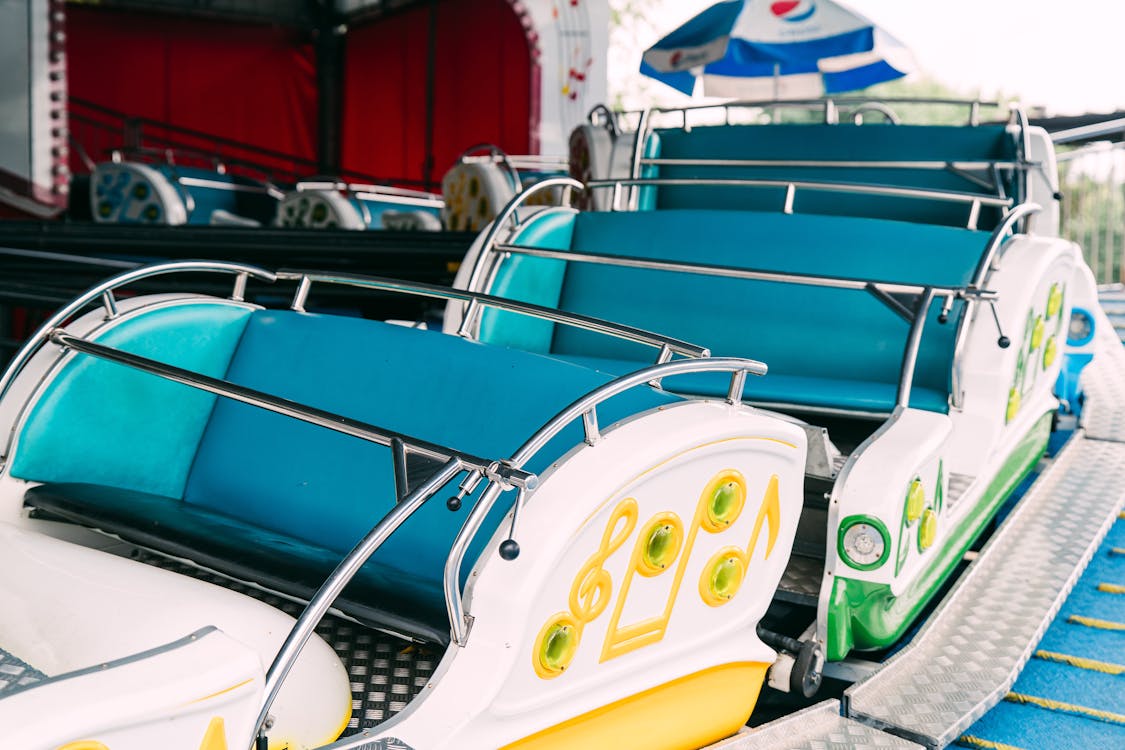
[{"label": "long diamond-plate walkway section beside the green-based car", "polygon": [[945,747],[1008,692],[1125,500],[1125,444],[1078,433],[847,714]]}]

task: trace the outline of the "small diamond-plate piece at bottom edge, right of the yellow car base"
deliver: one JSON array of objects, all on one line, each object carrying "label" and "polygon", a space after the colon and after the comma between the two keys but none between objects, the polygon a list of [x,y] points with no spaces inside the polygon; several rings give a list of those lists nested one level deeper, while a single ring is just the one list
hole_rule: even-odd
[{"label": "small diamond-plate piece at bottom edge, right of the yellow car base", "polygon": [[791,716],[742,730],[706,750],[899,750],[919,748],[840,716],[839,701],[825,701]]}]

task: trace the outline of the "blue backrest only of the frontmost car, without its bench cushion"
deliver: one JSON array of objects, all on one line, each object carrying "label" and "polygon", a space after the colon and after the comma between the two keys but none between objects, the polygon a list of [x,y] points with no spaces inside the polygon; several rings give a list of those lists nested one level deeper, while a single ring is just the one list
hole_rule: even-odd
[{"label": "blue backrest only of the frontmost car, without its bench cushion", "polygon": [[[273,310],[253,314],[227,378],[496,459],[508,458],[557,412],[610,379],[436,332]],[[666,394],[633,389],[606,405],[603,423],[669,400]],[[565,431],[534,468],[580,440],[577,426]],[[341,553],[396,503],[387,448],[227,399],[215,406],[183,499]],[[504,510],[489,518],[469,559]],[[453,514],[440,500],[428,503],[376,559],[412,577],[425,571],[421,575],[438,588],[464,519],[464,510]]]}]

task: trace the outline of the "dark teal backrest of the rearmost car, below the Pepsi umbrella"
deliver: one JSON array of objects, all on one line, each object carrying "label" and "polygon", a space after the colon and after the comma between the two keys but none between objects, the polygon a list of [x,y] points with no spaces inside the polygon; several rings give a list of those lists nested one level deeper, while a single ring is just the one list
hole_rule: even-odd
[{"label": "dark teal backrest of the rearmost car, below the Pepsi umbrella", "polygon": [[[968,162],[1011,161],[1015,139],[1002,125],[950,127],[928,125],[729,125],[659,129],[650,151],[662,159],[776,161],[777,165],[668,165],[660,178],[724,178],[809,180],[889,184],[932,190],[954,190],[994,196],[950,169],[879,169],[870,166],[794,166],[791,161],[825,162]],[[988,177],[987,172],[974,172]],[[1004,182],[1006,195],[1012,186]],[[658,189],[658,208],[724,208],[778,210],[784,188],[665,186]],[[908,198],[799,190],[795,210],[804,214],[870,216],[899,220],[965,226],[966,204]],[[993,227],[998,209],[983,209],[979,226]]]}]

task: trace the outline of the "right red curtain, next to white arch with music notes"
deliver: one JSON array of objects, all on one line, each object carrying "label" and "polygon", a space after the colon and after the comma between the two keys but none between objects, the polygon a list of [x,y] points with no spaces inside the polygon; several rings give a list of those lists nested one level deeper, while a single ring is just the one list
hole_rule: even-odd
[{"label": "right red curtain, next to white arch with music notes", "polygon": [[[433,171],[440,181],[465,148],[531,150],[532,65],[507,0],[442,0],[436,13]],[[378,177],[425,175],[426,56],[431,6],[348,34],[342,164]]]}]

